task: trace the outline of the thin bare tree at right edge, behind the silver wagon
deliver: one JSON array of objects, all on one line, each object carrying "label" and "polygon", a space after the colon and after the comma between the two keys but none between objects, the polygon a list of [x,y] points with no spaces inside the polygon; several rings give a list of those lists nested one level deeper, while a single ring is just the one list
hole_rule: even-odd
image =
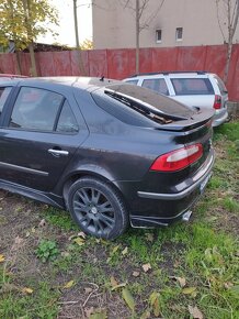
[{"label": "thin bare tree at right edge, behind the silver wagon", "polygon": [[[224,81],[226,84],[228,80],[235,32],[239,20],[239,0],[216,0],[216,6],[219,29],[223,34],[224,42],[227,44],[227,61],[224,74]],[[223,26],[223,24],[225,24],[225,18],[227,25],[226,31],[224,31]]]}]

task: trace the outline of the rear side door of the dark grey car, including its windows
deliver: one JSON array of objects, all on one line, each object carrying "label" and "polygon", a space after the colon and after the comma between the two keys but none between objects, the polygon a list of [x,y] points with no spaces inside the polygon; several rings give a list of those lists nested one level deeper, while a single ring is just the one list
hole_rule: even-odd
[{"label": "rear side door of the dark grey car, including its windows", "polygon": [[53,191],[77,147],[88,136],[69,87],[61,95],[37,87],[19,88],[3,108],[0,128],[0,179],[41,191]]}]

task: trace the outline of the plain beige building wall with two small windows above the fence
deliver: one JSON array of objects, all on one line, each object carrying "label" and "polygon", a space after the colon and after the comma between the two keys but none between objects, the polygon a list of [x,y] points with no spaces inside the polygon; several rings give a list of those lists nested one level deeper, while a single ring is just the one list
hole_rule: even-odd
[{"label": "plain beige building wall with two small windows above the fence", "polygon": [[[231,16],[235,1],[231,1]],[[140,47],[227,43],[228,8],[226,2],[227,0],[139,0]],[[136,0],[92,1],[95,50],[136,46],[135,8]],[[234,37],[234,43],[238,42],[239,26]]]}]

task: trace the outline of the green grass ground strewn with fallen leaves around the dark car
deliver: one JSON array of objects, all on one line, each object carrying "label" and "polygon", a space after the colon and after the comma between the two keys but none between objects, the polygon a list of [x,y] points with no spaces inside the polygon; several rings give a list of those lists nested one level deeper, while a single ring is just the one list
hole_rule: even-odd
[{"label": "green grass ground strewn with fallen leaves around the dark car", "polygon": [[[82,305],[93,289],[95,293],[83,309],[101,311],[100,302],[109,318],[192,318],[189,306],[197,307],[206,319],[239,318],[238,136],[238,122],[215,130],[214,175],[189,223],[156,230],[130,229],[114,242],[87,237],[78,244],[75,239],[79,229],[69,215],[43,206],[38,216],[47,226],[36,227],[25,239],[29,245],[19,252],[10,251],[10,261],[0,263],[0,318],[57,318],[59,312],[81,318]],[[24,211],[21,213],[24,216]],[[35,255],[45,238],[50,238],[59,250],[55,260],[47,263]],[[49,248],[46,250],[50,255]],[[24,273],[23,261],[32,263],[34,271]],[[146,264],[150,267],[144,271]],[[184,279],[185,286],[179,278]],[[72,287],[64,288],[70,280]],[[118,287],[112,290],[114,280]],[[18,289],[4,290],[8,283]],[[122,296],[125,285],[135,301],[135,311]],[[30,287],[33,293],[23,294],[22,287]],[[87,292],[86,287],[92,290]],[[61,300],[80,301],[69,304],[68,314],[62,312]],[[73,311],[77,305],[78,317],[73,317],[76,312],[71,314],[70,307]]]}]

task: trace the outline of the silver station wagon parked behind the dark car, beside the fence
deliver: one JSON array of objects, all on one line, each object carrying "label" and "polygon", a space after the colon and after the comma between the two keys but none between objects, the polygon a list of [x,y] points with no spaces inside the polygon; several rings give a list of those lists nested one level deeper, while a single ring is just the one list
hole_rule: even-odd
[{"label": "silver station wagon parked behind the dark car, beside the fence", "polygon": [[124,81],[152,89],[191,108],[214,109],[213,127],[218,127],[228,118],[228,92],[223,80],[215,74],[205,72],[140,74]]}]

